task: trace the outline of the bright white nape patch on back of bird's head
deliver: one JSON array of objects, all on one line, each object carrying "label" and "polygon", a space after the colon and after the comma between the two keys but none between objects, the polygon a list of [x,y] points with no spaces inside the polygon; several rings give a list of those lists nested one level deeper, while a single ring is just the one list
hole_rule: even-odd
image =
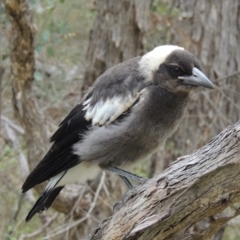
[{"label": "bright white nape patch on back of bird's head", "polygon": [[163,45],[154,48],[151,52],[142,56],[139,61],[139,71],[147,80],[152,81],[153,72],[156,71],[165,59],[175,50],[184,50],[184,48],[174,45]]}]

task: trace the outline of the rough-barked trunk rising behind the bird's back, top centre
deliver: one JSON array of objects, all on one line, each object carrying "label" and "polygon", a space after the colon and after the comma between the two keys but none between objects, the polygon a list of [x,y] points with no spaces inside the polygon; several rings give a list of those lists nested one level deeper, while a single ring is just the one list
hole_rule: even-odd
[{"label": "rough-barked trunk rising behind the bird's back, top centre", "polygon": [[106,69],[143,53],[151,0],[96,1],[83,91]]}]

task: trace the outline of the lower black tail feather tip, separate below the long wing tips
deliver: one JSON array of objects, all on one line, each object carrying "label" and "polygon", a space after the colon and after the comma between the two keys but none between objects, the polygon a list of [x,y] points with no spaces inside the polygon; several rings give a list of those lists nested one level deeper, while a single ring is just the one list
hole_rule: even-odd
[{"label": "lower black tail feather tip, separate below the long wing tips", "polygon": [[36,213],[41,213],[44,210],[47,210],[53,204],[54,200],[63,188],[64,186],[61,186],[53,190],[44,191],[39,197],[39,199],[36,201],[32,209],[29,211],[26,217],[26,222],[30,221]]}]

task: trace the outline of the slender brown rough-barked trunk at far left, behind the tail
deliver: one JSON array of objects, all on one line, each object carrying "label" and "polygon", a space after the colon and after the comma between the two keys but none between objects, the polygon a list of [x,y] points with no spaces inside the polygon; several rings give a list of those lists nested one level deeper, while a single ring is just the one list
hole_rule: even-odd
[{"label": "slender brown rough-barked trunk at far left, behind the tail", "polygon": [[12,23],[11,82],[14,113],[27,132],[28,159],[32,169],[46,151],[44,120],[31,91],[34,73],[35,26],[26,1],[6,1]]}]

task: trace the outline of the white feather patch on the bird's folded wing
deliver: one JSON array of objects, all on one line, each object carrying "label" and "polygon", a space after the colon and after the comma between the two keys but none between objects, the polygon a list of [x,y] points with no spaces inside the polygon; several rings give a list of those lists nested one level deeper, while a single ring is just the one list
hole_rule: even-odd
[{"label": "white feather patch on the bird's folded wing", "polygon": [[85,106],[83,110],[87,110],[85,119],[88,121],[92,119],[92,125],[110,124],[134,104],[142,91],[134,96],[129,94],[126,97],[117,96],[105,101],[99,100],[94,106],[91,106],[91,98],[89,98],[83,103]]}]

